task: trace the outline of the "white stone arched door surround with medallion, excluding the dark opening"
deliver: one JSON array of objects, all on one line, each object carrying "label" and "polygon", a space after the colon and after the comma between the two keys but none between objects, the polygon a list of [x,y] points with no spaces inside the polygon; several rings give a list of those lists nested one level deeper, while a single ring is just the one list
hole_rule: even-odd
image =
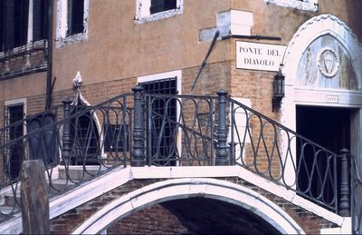
[{"label": "white stone arched door surround with medallion, excluding the dark opening", "polygon": [[[357,37],[337,17],[319,15],[302,24],[283,60],[286,93],[281,122],[296,130],[299,107],[348,108],[351,130],[360,130],[356,120],[362,107],[361,56]],[[360,145],[360,138],[350,135],[351,151],[359,155],[354,146]]]}]

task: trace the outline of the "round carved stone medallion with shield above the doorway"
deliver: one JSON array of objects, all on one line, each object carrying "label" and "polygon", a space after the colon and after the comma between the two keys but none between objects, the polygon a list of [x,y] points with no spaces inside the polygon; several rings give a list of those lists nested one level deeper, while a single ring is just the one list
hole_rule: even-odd
[{"label": "round carved stone medallion with shield above the doorway", "polygon": [[323,76],[332,78],[338,73],[338,54],[330,48],[324,48],[318,54],[317,64]]}]

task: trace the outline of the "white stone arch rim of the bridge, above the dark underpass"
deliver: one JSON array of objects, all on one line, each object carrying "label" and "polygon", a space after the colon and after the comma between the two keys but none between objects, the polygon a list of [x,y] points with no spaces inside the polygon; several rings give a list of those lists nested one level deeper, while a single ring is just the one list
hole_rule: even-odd
[{"label": "white stone arch rim of the bridge, above the dark underpass", "polygon": [[285,211],[257,192],[232,182],[205,178],[159,181],[132,191],[104,206],[74,230],[73,234],[100,233],[112,222],[126,217],[132,211],[164,201],[197,196],[226,201],[252,211],[282,234],[304,234],[300,226]]}]

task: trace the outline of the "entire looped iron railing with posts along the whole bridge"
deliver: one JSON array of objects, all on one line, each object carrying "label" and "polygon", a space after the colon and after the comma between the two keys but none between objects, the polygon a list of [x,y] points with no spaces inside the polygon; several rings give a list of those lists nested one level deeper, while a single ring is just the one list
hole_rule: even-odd
[{"label": "entire looped iron railing with posts along the whole bridge", "polygon": [[[347,172],[348,178],[348,170],[339,169],[345,165],[340,162],[346,154],[329,152],[227,98],[224,91],[217,96],[195,96],[143,93],[139,86],[132,90],[133,94],[96,106],[74,106],[65,101],[62,117],[58,114],[50,124],[1,142],[5,166],[1,189],[14,199],[8,200],[11,203],[4,200],[7,208],[1,211],[0,207],[2,220],[20,203],[21,175],[12,177],[9,173],[12,151],[21,156],[21,162],[43,159],[51,194],[119,165],[238,164],[331,211],[349,214],[349,184],[346,186],[338,173]],[[59,165],[65,171],[62,184],[54,179]],[[83,170],[76,180],[71,165]]]}]

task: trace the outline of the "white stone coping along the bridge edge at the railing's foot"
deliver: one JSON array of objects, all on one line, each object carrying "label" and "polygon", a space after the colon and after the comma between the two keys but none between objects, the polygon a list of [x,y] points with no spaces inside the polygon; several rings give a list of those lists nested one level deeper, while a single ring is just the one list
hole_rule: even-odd
[{"label": "white stone coping along the bridge edge at the railing's foot", "polygon": [[[325,220],[335,223],[339,227],[349,223],[348,218],[343,218],[332,211],[328,211],[319,205],[308,201],[294,191],[278,185],[272,181],[248,171],[240,166],[202,166],[202,167],[127,167],[115,168],[112,171],[100,176],[92,181],[84,182],[80,187],[68,191],[50,201],[50,219],[61,215],[81,204],[90,201],[100,195],[112,191],[113,189],[132,180],[147,179],[182,179],[182,178],[220,178],[238,177],[248,181],[262,190],[281,197],[292,204],[300,206],[306,211],[310,211]],[[0,226],[0,234],[20,233],[22,231],[21,218],[6,221]]]}]

